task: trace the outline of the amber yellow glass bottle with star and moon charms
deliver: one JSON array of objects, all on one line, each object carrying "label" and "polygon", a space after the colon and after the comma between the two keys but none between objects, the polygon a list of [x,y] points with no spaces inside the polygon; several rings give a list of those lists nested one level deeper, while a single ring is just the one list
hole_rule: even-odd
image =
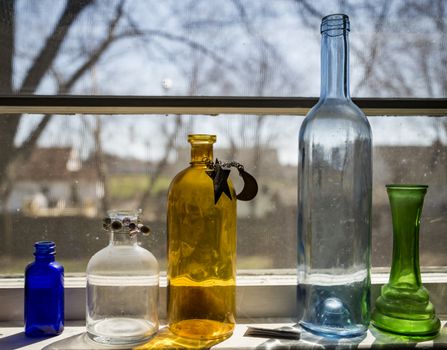
[{"label": "amber yellow glass bottle with star and moon charms", "polygon": [[190,167],[168,194],[168,323],[183,337],[216,339],[232,333],[236,293],[236,194],[215,204],[207,161],[214,135],[189,135]]}]

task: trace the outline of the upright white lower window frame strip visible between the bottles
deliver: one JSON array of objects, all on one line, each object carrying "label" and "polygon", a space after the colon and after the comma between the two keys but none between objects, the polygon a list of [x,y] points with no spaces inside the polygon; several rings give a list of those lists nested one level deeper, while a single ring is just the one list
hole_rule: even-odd
[{"label": "upright white lower window frame strip visible between the bottles", "polygon": [[[377,299],[380,287],[388,281],[388,274],[371,276],[371,301]],[[425,272],[422,282],[430,292],[436,312],[447,317],[447,273]],[[23,320],[23,278],[0,278],[0,322]],[[238,271],[237,315],[240,319],[287,318],[293,319],[296,311],[295,270]],[[159,317],[166,318],[166,276],[160,278]],[[85,278],[65,279],[65,319],[85,318]]]}]

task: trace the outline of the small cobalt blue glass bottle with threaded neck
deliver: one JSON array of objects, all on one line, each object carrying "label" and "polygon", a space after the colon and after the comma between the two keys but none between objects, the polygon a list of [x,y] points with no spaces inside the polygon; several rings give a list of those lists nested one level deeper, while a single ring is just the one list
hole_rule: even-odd
[{"label": "small cobalt blue glass bottle with threaded neck", "polygon": [[35,261],[25,270],[25,334],[57,335],[64,330],[64,268],[54,242],[34,244]]}]

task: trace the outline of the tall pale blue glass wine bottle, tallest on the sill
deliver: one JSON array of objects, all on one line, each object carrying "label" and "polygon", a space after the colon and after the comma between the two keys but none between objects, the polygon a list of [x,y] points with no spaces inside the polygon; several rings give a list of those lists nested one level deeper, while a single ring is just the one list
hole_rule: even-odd
[{"label": "tall pale blue glass wine bottle, tallest on the sill", "polygon": [[321,23],[321,96],[299,134],[298,320],[329,336],[370,320],[371,129],[349,94],[349,18]]}]

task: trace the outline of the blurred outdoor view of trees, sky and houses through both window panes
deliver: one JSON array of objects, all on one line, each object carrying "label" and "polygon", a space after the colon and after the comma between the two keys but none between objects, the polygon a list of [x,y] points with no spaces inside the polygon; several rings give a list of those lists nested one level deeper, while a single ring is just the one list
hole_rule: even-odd
[{"label": "blurred outdoor view of trees, sky and houses through both window panes", "polygon": [[[318,96],[321,17],[351,18],[355,97],[447,97],[443,0],[8,0],[0,4],[0,94]],[[424,183],[421,265],[447,265],[447,116],[369,118],[373,266],[391,261],[387,183]],[[166,266],[166,195],[189,133],[260,185],[238,203],[238,268],[296,264],[302,116],[1,115],[0,273],[23,274],[51,239],[68,274],[108,242],[109,209],[143,208],[142,245]],[[236,189],[241,189],[237,176]]]}]

